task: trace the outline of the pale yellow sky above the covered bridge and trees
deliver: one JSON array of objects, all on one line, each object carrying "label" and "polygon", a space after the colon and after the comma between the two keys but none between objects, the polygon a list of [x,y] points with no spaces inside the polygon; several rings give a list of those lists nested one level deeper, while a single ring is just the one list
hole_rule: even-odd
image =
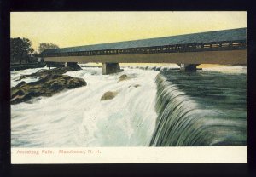
[{"label": "pale yellow sky above the covered bridge and trees", "polygon": [[11,37],[73,47],[247,27],[245,11],[12,12]]}]

